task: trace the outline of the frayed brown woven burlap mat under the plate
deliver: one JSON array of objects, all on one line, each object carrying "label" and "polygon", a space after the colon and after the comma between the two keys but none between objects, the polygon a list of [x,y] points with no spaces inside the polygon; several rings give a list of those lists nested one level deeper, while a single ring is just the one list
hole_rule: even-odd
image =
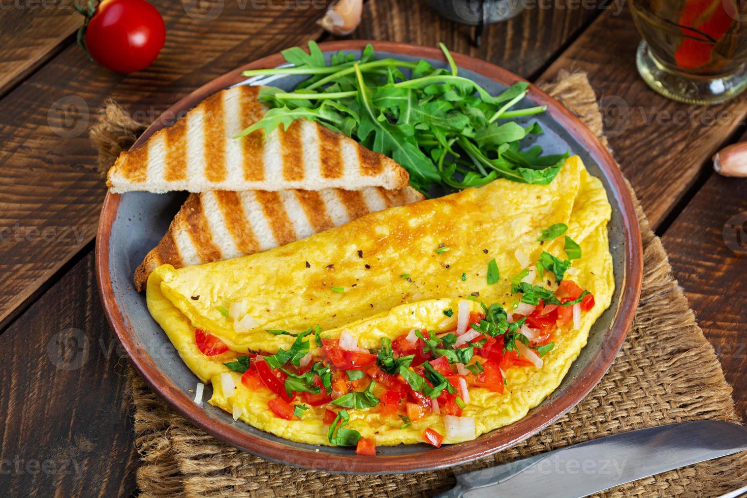
[{"label": "frayed brown woven burlap mat under the plate", "polygon": [[[584,73],[564,72],[545,90],[576,113],[605,145],[594,90]],[[93,140],[112,164],[143,131],[114,103]],[[449,470],[355,476],[265,461],[221,443],[161,402],[130,370],[141,497],[412,497],[450,488],[454,475],[605,435],[694,419],[739,422],[713,348],[695,323],[658,237],[636,200],[644,249],[643,289],[633,328],[610,368],[576,408],[523,443]],[[580,475],[579,479],[583,479]],[[715,497],[747,481],[747,453],[684,467],[607,491],[610,497]],[[553,491],[548,489],[548,496]]]}]

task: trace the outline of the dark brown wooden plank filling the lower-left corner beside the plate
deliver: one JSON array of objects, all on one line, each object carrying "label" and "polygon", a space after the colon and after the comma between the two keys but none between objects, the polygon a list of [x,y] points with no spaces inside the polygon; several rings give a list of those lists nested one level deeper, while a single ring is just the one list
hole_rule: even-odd
[{"label": "dark brown wooden plank filling the lower-left corner beside the plate", "polygon": [[0,496],[130,496],[127,360],[99,302],[93,252],[0,335],[0,350]]}]

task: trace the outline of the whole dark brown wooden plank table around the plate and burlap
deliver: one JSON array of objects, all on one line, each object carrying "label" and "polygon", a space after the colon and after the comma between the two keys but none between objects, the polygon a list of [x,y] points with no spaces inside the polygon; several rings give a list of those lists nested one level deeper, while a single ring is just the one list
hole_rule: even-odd
[{"label": "whole dark brown wooden plank table around the plate and burlap", "polygon": [[[105,186],[86,130],[99,106],[114,99],[149,122],[242,63],[331,39],[315,24],[322,1],[218,1],[222,12],[207,22],[188,2],[154,0],[167,25],[166,45],[148,69],[119,75],[76,46],[81,19],[70,3],[23,0],[0,9],[4,497],[136,491],[127,360],[94,283],[93,237]],[[210,7],[200,5],[202,12]],[[479,49],[471,46],[471,28],[439,18],[423,0],[368,0],[363,18],[353,37],[443,41],[531,81],[551,80],[561,69],[589,72],[616,157],[719,353],[738,410],[747,414],[747,258],[722,235],[731,217],[747,211],[747,179],[722,178],[710,162],[720,147],[744,139],[745,100],[691,108],[657,96],[636,73],[639,36],[627,8],[612,2],[539,1],[492,25]],[[80,132],[72,136],[60,133],[59,122],[71,96],[84,102],[82,124],[72,123]]]}]

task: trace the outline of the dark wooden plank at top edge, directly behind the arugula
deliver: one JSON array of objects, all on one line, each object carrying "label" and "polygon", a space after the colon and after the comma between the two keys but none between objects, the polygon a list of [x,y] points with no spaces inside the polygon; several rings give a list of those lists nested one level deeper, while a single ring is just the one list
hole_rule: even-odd
[{"label": "dark wooden plank at top edge, directly behind the arugula", "polygon": [[443,42],[453,52],[480,57],[533,79],[600,12],[557,4],[527,2],[530,7],[523,13],[486,28],[478,49],[471,41],[473,27],[444,19],[424,0],[373,0],[364,4],[364,22],[353,36],[425,46]]}]

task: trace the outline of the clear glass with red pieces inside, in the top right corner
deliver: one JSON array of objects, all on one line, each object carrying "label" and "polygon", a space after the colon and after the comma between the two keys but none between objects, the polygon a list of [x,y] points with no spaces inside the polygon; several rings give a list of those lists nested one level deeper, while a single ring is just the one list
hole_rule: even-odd
[{"label": "clear glass with red pieces inside, in the top right corner", "polygon": [[636,66],[663,96],[717,104],[747,88],[744,0],[631,0],[643,37]]}]

